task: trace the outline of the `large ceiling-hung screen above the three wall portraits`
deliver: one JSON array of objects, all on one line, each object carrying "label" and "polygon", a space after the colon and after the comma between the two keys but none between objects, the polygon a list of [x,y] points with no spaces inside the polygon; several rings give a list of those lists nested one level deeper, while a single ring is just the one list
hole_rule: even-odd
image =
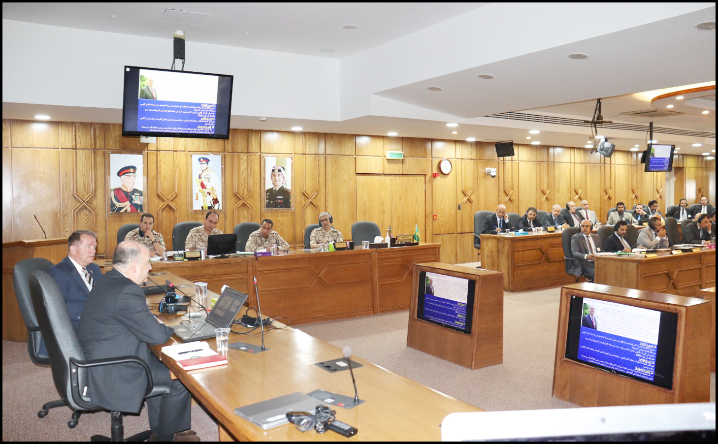
[{"label": "large ceiling-hung screen above the three wall portraits", "polygon": [[229,138],[234,76],[126,66],[122,135]]}]

